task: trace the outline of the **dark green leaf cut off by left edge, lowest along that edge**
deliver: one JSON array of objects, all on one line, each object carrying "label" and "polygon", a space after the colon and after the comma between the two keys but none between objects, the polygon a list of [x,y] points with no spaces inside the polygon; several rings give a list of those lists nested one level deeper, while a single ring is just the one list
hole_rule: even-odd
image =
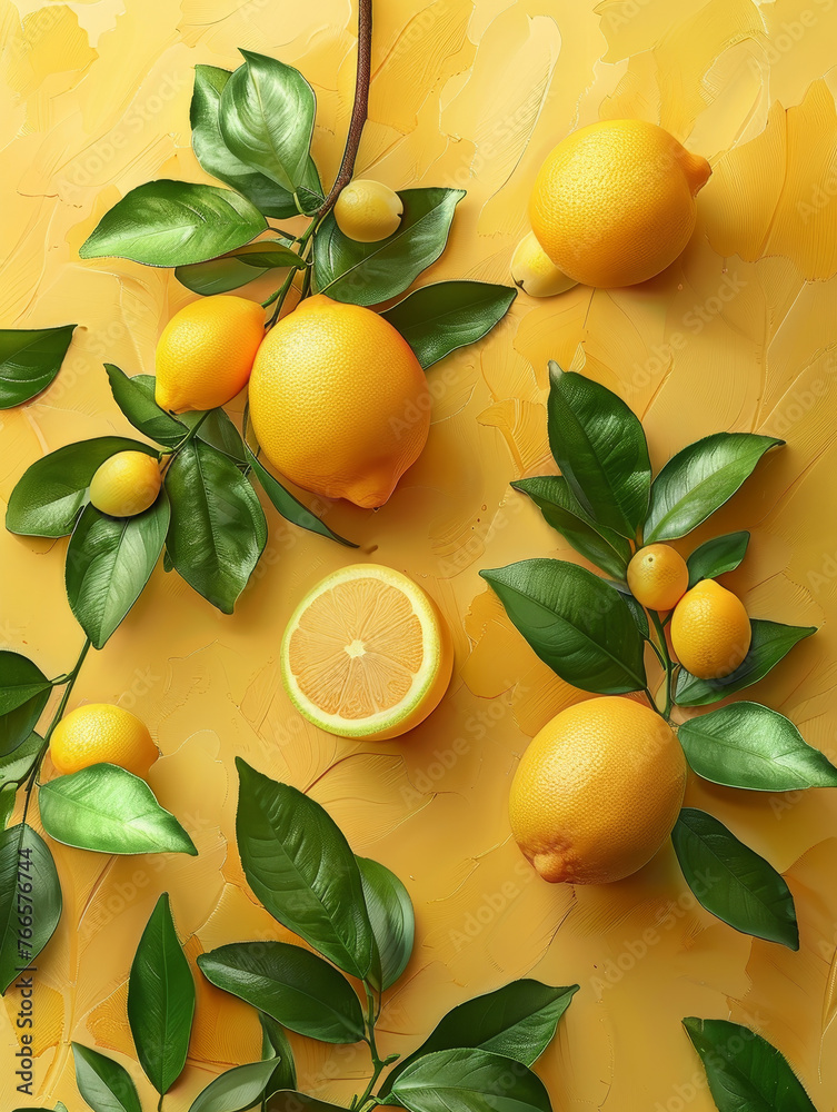
[{"label": "dark green leaf cut off by left edge, lowest along that edge", "polygon": [[[34,962],[60,917],[61,884],[49,846],[22,823],[0,832],[0,993]],[[31,937],[21,939],[21,927]]]}]

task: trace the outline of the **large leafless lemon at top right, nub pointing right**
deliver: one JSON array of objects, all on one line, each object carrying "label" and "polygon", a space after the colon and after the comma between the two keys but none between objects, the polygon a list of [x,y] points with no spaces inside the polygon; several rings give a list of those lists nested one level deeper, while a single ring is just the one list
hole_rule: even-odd
[{"label": "large leafless lemon at top right, nub pointing right", "polygon": [[529,205],[546,254],[587,286],[632,286],[675,261],[711,167],[656,123],[604,120],[547,157]]}]

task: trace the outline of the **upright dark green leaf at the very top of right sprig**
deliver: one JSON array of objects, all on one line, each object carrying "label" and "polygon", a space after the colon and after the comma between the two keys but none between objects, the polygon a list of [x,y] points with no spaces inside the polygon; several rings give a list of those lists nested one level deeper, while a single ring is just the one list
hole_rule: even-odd
[{"label": "upright dark green leaf at the very top of right sprig", "polygon": [[549,447],[582,509],[631,540],[648,507],[651,465],[639,418],[611,390],[549,363]]}]

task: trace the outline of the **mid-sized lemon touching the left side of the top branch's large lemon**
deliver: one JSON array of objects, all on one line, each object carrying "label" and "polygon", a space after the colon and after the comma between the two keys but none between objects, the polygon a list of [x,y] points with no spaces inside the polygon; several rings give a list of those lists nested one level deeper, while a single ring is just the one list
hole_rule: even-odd
[{"label": "mid-sized lemon touching the left side of the top branch's large lemon", "polygon": [[241,390],[265,336],[265,310],[229,294],[176,312],[157,345],[155,399],[170,413],[215,409]]}]

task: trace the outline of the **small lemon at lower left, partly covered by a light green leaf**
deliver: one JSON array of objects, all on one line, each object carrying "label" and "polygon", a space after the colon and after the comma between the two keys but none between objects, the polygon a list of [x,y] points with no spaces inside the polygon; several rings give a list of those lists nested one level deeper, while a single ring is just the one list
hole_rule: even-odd
[{"label": "small lemon at lower left, partly covered by a light green leaf", "polygon": [[116,764],[145,776],[158,757],[146,724],[112,703],[88,703],[68,714],[56,726],[49,752],[61,775]]}]

